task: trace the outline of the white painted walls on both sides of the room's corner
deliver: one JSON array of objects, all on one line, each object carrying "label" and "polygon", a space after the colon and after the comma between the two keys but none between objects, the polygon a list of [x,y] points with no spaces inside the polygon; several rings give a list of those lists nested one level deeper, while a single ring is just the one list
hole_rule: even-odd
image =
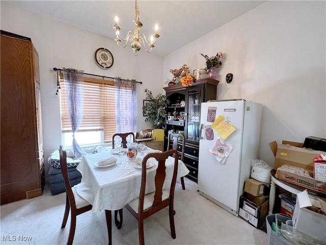
[{"label": "white painted walls on both sides of the room's corner", "polygon": [[[61,143],[53,67],[144,82],[137,87],[141,130],[150,127],[141,111],[145,88],[154,95],[164,93],[162,81],[172,78],[170,69],[182,64],[203,68],[199,53],[221,51],[218,99],[241,97],[263,104],[259,158],[273,164],[270,141],[326,137],[325,22],[324,1],[269,1],[162,59],[146,52],[134,57],[130,48],[121,50],[113,40],[1,3],[1,29],[32,38],[39,53],[45,158]],[[98,47],[114,55],[108,70],[94,62]],[[226,85],[229,72],[234,82]]]}]

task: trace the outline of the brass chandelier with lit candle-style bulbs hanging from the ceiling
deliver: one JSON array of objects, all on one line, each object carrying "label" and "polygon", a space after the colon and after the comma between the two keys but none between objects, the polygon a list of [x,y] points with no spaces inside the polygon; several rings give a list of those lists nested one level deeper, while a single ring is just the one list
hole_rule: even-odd
[{"label": "brass chandelier with lit candle-style bulbs hanging from the ceiling", "polygon": [[[146,36],[144,33],[140,34],[140,30],[141,27],[143,26],[143,23],[140,21],[140,14],[139,14],[139,10],[137,7],[137,0],[135,0],[135,6],[134,6],[136,15],[134,17],[134,20],[132,21],[132,23],[134,24],[134,33],[132,33],[131,31],[129,31],[127,33],[127,37],[126,38],[122,38],[120,37],[120,26],[118,24],[118,16],[115,17],[115,25],[113,26],[113,29],[116,30],[116,35],[117,37],[114,39],[118,46],[121,48],[124,48],[127,43],[128,40],[131,42],[131,48],[133,50],[133,55],[134,56],[138,56],[138,51],[141,50],[141,43],[143,43],[143,46],[145,48],[145,50],[150,53],[152,51],[152,48],[154,47],[154,44],[156,42],[156,39],[159,38],[159,35],[157,33],[158,30],[158,26],[157,24],[155,25],[155,33],[151,36],[151,40],[150,42],[147,41]],[[120,42],[121,41],[125,41],[124,45],[120,46]],[[150,47],[149,50],[147,50],[146,46],[145,46],[145,42],[148,44],[148,46]]]}]

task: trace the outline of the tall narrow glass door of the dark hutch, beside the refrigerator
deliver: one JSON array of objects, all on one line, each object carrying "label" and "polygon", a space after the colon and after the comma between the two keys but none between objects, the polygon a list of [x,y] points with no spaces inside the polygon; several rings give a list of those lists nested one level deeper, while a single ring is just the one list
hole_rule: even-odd
[{"label": "tall narrow glass door of the dark hutch, beside the refrigerator", "polygon": [[202,91],[200,87],[189,88],[186,97],[187,103],[187,124],[185,132],[185,140],[199,143],[200,134],[200,105]]}]

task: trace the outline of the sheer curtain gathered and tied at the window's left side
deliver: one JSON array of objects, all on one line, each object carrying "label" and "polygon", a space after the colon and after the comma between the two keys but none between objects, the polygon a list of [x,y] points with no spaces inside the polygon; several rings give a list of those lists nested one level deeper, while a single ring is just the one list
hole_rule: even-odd
[{"label": "sheer curtain gathered and tied at the window's left side", "polygon": [[72,68],[62,68],[65,88],[67,91],[67,102],[69,117],[72,130],[72,148],[76,158],[80,158],[86,152],[80,148],[75,139],[75,133],[78,131],[83,120],[84,110],[84,70]]}]

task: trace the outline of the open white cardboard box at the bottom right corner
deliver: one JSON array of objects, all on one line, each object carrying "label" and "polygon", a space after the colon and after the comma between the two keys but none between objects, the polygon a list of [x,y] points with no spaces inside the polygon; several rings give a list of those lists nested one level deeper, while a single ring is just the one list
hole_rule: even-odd
[{"label": "open white cardboard box at the bottom right corner", "polygon": [[[312,205],[320,208],[321,203],[317,200],[310,199]],[[299,202],[296,204],[293,212],[293,227],[309,236],[326,241],[326,216],[309,210],[308,208],[299,208]]]}]

